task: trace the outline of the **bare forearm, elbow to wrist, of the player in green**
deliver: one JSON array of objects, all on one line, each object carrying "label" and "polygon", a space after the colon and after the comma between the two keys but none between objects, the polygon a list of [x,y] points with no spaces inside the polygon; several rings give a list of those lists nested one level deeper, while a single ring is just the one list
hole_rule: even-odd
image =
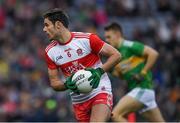
[{"label": "bare forearm, elbow to wrist, of the player in green", "polygon": [[146,64],[145,64],[144,69],[142,71],[147,72],[148,70],[150,70],[153,67],[153,65],[155,64],[158,56],[159,56],[159,54],[157,51],[155,51],[155,50],[151,51],[151,53],[149,53],[147,55]]}]

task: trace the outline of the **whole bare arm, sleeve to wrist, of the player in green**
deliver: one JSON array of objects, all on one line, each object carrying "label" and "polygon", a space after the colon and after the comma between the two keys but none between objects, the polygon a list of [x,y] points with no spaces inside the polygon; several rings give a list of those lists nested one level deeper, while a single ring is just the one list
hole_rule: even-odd
[{"label": "whole bare arm, sleeve to wrist, of the player in green", "polygon": [[144,47],[143,56],[146,57],[146,64],[142,72],[146,73],[155,64],[159,53],[149,46]]}]

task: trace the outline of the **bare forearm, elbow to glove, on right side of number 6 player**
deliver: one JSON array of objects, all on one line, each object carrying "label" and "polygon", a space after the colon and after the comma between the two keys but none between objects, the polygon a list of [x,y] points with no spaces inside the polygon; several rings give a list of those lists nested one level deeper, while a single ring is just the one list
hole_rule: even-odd
[{"label": "bare forearm, elbow to glove, on right side of number 6 player", "polygon": [[121,59],[121,54],[119,52],[115,52],[113,55],[111,55],[107,61],[103,64],[102,69],[107,72],[111,70],[112,67],[116,66]]}]

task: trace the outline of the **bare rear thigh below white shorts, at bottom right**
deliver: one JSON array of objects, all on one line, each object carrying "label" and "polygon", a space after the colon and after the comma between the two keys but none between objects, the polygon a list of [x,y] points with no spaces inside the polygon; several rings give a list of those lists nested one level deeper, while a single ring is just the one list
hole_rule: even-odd
[{"label": "bare rear thigh below white shorts, at bottom right", "polygon": [[142,113],[142,116],[151,122],[164,122],[159,108],[153,108]]}]

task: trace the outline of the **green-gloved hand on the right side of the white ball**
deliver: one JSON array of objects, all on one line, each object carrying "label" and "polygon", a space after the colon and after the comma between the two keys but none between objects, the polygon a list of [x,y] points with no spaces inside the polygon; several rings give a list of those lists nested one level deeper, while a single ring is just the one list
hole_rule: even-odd
[{"label": "green-gloved hand on the right side of the white ball", "polygon": [[101,79],[101,76],[104,74],[104,70],[102,68],[86,68],[85,70],[88,70],[92,73],[92,75],[89,77],[88,81],[91,81],[90,85],[92,88],[97,88]]}]

